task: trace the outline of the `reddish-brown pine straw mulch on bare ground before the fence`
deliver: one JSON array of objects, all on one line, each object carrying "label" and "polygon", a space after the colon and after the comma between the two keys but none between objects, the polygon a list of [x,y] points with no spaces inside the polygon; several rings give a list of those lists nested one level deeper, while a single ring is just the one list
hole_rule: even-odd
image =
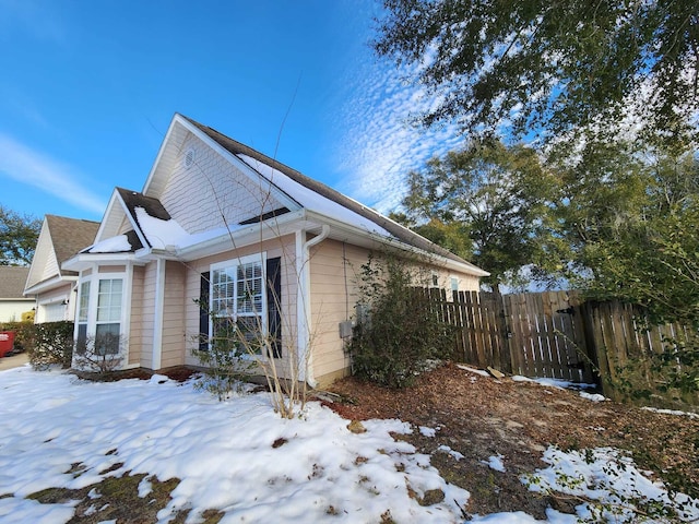
[{"label": "reddish-brown pine straw mulch on bare ground before the fence", "polygon": [[[628,451],[638,466],[683,492],[699,497],[699,419],[618,403],[591,402],[579,393],[510,378],[483,377],[453,364],[420,376],[404,390],[342,379],[325,402],[351,420],[399,418],[414,431],[396,436],[431,455],[442,477],[471,492],[466,514],[524,511],[545,519],[547,507],[572,513],[560,498],[528,491],[520,475],[546,467],[544,450],[611,446]],[[419,427],[437,429],[426,437]],[[455,460],[440,445],[464,455]],[[488,457],[502,455],[506,472]]]}]

